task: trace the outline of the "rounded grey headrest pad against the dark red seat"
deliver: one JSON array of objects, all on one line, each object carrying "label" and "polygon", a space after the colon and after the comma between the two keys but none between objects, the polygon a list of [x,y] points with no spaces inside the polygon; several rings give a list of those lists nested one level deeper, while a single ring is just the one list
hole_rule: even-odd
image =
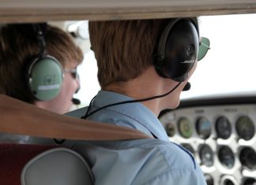
[{"label": "rounded grey headrest pad against the dark red seat", "polygon": [[21,185],[90,185],[93,181],[85,159],[62,147],[38,154],[21,171]]}]

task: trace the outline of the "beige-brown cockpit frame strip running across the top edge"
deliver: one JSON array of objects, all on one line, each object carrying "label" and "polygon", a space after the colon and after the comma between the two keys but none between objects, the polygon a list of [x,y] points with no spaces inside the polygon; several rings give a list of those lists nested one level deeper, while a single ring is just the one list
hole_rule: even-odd
[{"label": "beige-brown cockpit frame strip running across the top edge", "polygon": [[256,13],[255,0],[3,0],[0,22],[130,20]]}]

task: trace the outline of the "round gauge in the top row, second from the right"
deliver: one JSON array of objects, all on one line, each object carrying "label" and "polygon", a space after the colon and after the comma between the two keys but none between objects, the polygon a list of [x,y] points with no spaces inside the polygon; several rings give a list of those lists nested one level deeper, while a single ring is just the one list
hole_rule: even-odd
[{"label": "round gauge in the top row, second from the right", "polygon": [[226,117],[219,117],[215,124],[218,138],[228,139],[232,134],[232,126]]}]

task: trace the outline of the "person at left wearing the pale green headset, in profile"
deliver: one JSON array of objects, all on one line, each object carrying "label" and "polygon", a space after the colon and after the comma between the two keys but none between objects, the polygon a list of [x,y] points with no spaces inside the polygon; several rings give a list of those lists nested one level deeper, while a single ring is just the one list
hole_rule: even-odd
[{"label": "person at left wearing the pale green headset, in profile", "polygon": [[0,30],[0,93],[66,113],[80,87],[77,65],[82,61],[81,49],[60,28],[7,24]]}]

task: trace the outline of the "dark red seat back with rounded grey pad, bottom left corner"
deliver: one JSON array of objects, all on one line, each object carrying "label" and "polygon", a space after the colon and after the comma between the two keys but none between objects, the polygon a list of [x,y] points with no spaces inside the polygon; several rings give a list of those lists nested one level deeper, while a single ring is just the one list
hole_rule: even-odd
[{"label": "dark red seat back with rounded grey pad, bottom left corner", "polygon": [[73,150],[2,143],[0,184],[90,185],[93,176],[86,161]]}]

